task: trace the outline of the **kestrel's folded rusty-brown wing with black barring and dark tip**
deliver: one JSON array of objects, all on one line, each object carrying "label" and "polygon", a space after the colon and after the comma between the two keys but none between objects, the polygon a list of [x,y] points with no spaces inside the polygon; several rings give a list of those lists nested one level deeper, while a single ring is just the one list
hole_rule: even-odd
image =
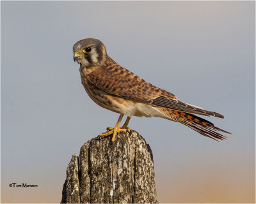
[{"label": "kestrel's folded rusty-brown wing with black barring and dark tip", "polygon": [[99,89],[121,98],[186,113],[224,118],[220,113],[179,101],[174,94],[149,84],[115,62],[93,71],[87,75],[87,79]]}]

